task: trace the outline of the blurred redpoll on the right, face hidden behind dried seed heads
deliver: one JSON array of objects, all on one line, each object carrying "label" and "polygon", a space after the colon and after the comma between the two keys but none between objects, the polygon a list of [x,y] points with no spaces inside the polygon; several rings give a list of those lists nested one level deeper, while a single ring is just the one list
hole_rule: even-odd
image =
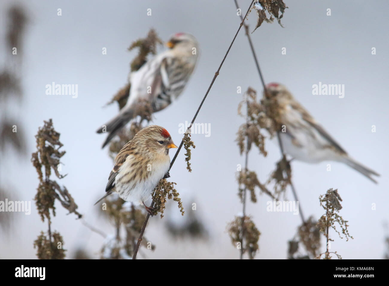
[{"label": "blurred redpoll on the right, face hidden behind dried seed heads", "polygon": [[286,154],[308,163],[342,162],[377,183],[371,175],[379,174],[351,158],[285,86],[272,82],[266,86],[263,96],[265,101],[277,105],[277,123],[286,126],[286,132],[279,132]]}]

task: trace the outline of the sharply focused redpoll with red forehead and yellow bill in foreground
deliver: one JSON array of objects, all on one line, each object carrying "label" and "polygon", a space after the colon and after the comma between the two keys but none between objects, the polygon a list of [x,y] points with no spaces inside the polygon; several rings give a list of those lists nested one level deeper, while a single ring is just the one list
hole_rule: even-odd
[{"label": "sharply focused redpoll with red forehead and yellow bill in foreground", "polygon": [[107,193],[96,204],[116,191],[127,202],[143,204],[151,214],[144,201],[149,199],[159,180],[170,177],[170,148],[177,146],[165,128],[150,125],[140,130],[117,153],[105,188]]}]

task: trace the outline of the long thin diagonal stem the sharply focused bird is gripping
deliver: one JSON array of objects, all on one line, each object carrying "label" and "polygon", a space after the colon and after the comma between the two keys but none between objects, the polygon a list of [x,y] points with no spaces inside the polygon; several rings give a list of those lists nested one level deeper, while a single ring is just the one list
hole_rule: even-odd
[{"label": "long thin diagonal stem the sharply focused bird is gripping", "polygon": [[[251,9],[253,3],[254,3],[254,0],[251,1],[251,4],[250,4],[250,6],[249,6],[249,9],[247,9],[247,12],[246,12],[244,18],[242,19],[242,22],[240,23],[239,28],[238,28],[237,32],[235,33],[235,36],[234,36],[234,38],[232,39],[232,42],[231,42],[230,46],[228,47],[228,50],[227,50],[226,54],[224,55],[223,60],[221,61],[220,65],[219,65],[219,68],[218,68],[217,71],[215,72],[215,75],[214,75],[214,77],[213,77],[213,79],[212,79],[212,81],[211,81],[211,83],[210,83],[210,85],[209,85],[209,87],[208,87],[208,89],[207,89],[207,92],[205,93],[205,95],[204,95],[204,97],[203,97],[203,100],[201,101],[201,103],[200,103],[200,105],[199,105],[199,107],[198,107],[198,109],[197,109],[197,111],[196,111],[196,113],[195,113],[195,116],[193,116],[193,119],[192,119],[192,121],[191,121],[191,124],[188,126],[188,128],[187,128],[187,130],[186,130],[187,133],[191,130],[191,127],[192,127],[193,123],[195,123],[197,114],[198,114],[198,112],[200,112],[200,109],[201,109],[201,107],[203,106],[203,103],[204,103],[205,99],[207,98],[208,93],[209,93],[209,91],[211,90],[212,85],[214,84],[214,82],[215,82],[215,80],[216,80],[216,77],[219,75],[220,69],[221,69],[221,67],[222,67],[222,65],[223,65],[223,63],[224,63],[224,61],[226,60],[227,55],[228,55],[228,53],[230,52],[230,49],[231,49],[233,43],[235,42],[235,39],[236,39],[236,37],[237,37],[237,35],[238,35],[239,31],[240,31],[240,28],[242,28],[242,26],[243,26],[244,19],[245,19],[246,16],[249,14],[249,11],[250,11],[250,9]],[[181,150],[183,144],[184,144],[184,139],[181,140],[180,146],[178,147],[178,149],[177,149],[177,151],[176,151],[176,153],[175,153],[175,155],[174,155],[174,157],[173,157],[173,160],[172,160],[172,162],[170,163],[169,171],[170,171],[170,169],[172,168],[173,163],[174,163],[175,159],[176,159],[177,156],[178,156],[178,153],[180,153],[180,150]],[[154,201],[152,201],[150,207],[153,207],[153,206],[154,206]],[[138,238],[138,242],[137,242],[137,245],[135,246],[134,255],[132,256],[132,259],[136,259],[136,258],[137,258],[138,249],[139,249],[140,243],[142,242],[143,233],[144,233],[144,231],[145,231],[145,228],[146,228],[147,222],[149,221],[149,218],[150,218],[150,214],[147,214],[146,219],[145,219],[145,221],[144,221],[144,223],[143,223],[143,226],[142,226],[142,230],[140,231],[139,238]]]}]

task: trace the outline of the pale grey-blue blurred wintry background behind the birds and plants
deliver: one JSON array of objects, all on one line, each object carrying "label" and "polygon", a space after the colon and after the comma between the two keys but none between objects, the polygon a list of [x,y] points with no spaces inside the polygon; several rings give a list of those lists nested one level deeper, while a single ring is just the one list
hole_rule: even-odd
[{"label": "pale grey-blue blurred wintry background behind the birds and plants", "polygon": [[[7,7],[16,1],[0,3],[0,37],[4,39]],[[14,227],[0,233],[0,258],[36,258],[33,240],[41,230],[47,230],[35,209],[38,179],[30,162],[35,151],[35,138],[43,120],[53,118],[54,128],[67,151],[61,161],[62,173],[58,180],[65,185],[85,214],[90,224],[105,233],[113,228],[97,214],[93,206],[104,193],[112,160],[107,149],[100,148],[104,137],[96,134],[98,126],[117,113],[117,106],[102,108],[127,81],[129,63],[136,51],[128,52],[130,43],[144,37],[155,28],[159,37],[167,40],[175,32],[189,32],[200,43],[200,58],[196,70],[180,98],[165,110],[155,114],[154,124],[164,126],[178,145],[182,135],[179,124],[190,121],[205,94],[212,77],[237,28],[239,18],[233,0],[230,1],[18,1],[25,7],[30,23],[25,34],[23,54],[24,99],[20,108],[12,112],[20,118],[28,140],[27,156],[9,153],[1,158],[2,185],[16,189],[15,198],[32,200],[32,214],[14,213]],[[246,11],[251,1],[239,1]],[[343,258],[383,258],[385,252],[384,221],[388,215],[388,97],[387,79],[389,40],[387,37],[389,2],[372,1],[291,1],[285,0],[282,23],[263,23],[252,34],[252,40],[266,82],[282,82],[297,100],[324,126],[348,153],[382,176],[375,185],[356,171],[335,162],[310,165],[293,161],[293,182],[298,191],[300,206],[306,217],[318,219],[324,214],[319,206],[319,195],[328,188],[338,188],[343,202],[340,214],[349,221],[349,232],[354,240],[340,239],[331,231],[332,250]],[[57,9],[62,16],[57,16]],[[147,9],[152,16],[147,16]],[[326,10],[331,9],[331,16]],[[244,13],[243,12],[243,13]],[[249,15],[250,30],[254,29],[256,14]],[[0,52],[4,60],[4,42]],[[107,55],[102,48],[107,47]],[[286,47],[287,54],[281,49]],[[371,54],[376,47],[377,54]],[[160,47],[160,51],[164,48]],[[319,81],[344,84],[345,97],[312,95],[312,85]],[[78,84],[78,97],[46,95],[46,84]],[[238,127],[244,119],[237,115],[237,106],[248,86],[262,92],[247,39],[242,30],[228,55],[200,113],[198,123],[210,124],[210,137],[193,135],[196,149],[192,151],[192,172],[186,170],[181,151],[170,171],[177,182],[186,212],[195,212],[203,221],[210,237],[208,241],[173,239],[165,230],[171,219],[181,223],[183,218],[175,202],[161,220],[151,218],[146,237],[156,245],[154,252],[144,250],[147,258],[238,258],[231,245],[226,225],[241,212],[237,197],[235,172],[237,164],[244,164],[234,142]],[[375,125],[377,132],[371,132]],[[250,152],[249,168],[266,181],[279,160],[275,141],[266,142],[268,156]],[[174,155],[172,150],[170,156]],[[326,164],[331,163],[331,172]],[[256,190],[258,195],[258,190]],[[293,200],[290,189],[287,198]],[[284,259],[287,240],[300,225],[300,217],[291,212],[267,212],[266,195],[247,205],[260,230],[259,253],[256,258]],[[195,202],[197,210],[189,208]],[[376,204],[376,210],[371,205]],[[99,257],[103,238],[92,233],[66,216],[56,204],[57,215],[52,229],[65,240],[67,258],[72,258],[78,247],[86,249],[93,258]],[[1,213],[0,213],[1,216]],[[324,237],[322,240],[324,252]]]}]

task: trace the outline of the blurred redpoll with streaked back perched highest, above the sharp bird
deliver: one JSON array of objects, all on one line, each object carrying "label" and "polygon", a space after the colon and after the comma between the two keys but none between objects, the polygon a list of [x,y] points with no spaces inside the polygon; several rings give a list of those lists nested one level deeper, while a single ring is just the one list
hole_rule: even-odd
[{"label": "blurred redpoll with streaked back perched highest, above the sharp bird", "polygon": [[198,43],[187,33],[176,33],[166,43],[168,50],[147,61],[138,71],[130,75],[130,95],[126,105],[116,117],[97,130],[108,132],[103,146],[116,133],[137,116],[137,106],[142,101],[151,104],[153,112],[167,107],[184,89],[195,69]]}]

